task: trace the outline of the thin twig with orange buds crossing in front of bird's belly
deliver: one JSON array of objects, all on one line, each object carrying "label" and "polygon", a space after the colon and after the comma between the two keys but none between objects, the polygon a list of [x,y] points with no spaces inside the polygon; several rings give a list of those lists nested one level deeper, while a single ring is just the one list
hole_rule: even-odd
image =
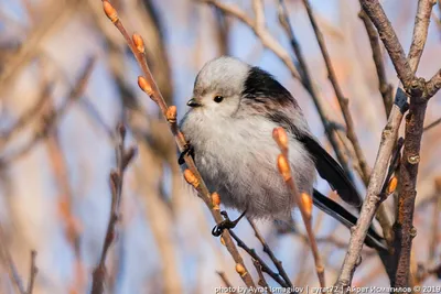
[{"label": "thin twig with orange buds crossing in front of bird's belly", "polygon": [[289,164],[289,145],[288,145],[288,134],[284,131],[283,128],[276,128],[272,131],[272,138],[277,142],[280,149],[280,154],[278,156],[278,162],[277,165],[279,167],[279,172],[281,176],[283,177],[284,183],[287,184],[291,196],[294,198],[297,207],[299,207],[299,210],[302,215],[302,219],[304,222],[304,227],[306,229],[309,242],[311,246],[311,251],[312,255],[314,257],[314,263],[315,263],[315,271],[319,277],[320,286],[325,287],[325,277],[324,277],[324,265],[322,262],[322,258],[320,257],[319,253],[319,247],[315,241],[315,236],[312,229],[312,221],[311,221],[311,213],[312,213],[312,198],[305,193],[302,193],[300,195],[295,182],[292,178],[291,174],[291,166]]}]

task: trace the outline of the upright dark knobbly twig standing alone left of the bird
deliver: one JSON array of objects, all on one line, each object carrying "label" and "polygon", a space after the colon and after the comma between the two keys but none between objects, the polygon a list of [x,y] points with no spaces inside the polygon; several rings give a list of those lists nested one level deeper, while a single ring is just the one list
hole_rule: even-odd
[{"label": "upright dark knobbly twig standing alone left of the bird", "polygon": [[128,164],[135,157],[136,149],[128,150],[125,146],[126,128],[122,124],[117,127],[118,144],[116,146],[117,168],[110,172],[111,206],[110,217],[107,225],[106,237],[103,243],[101,255],[98,264],[94,269],[92,281],[92,294],[101,294],[104,292],[104,282],[106,276],[106,258],[108,250],[116,237],[116,225],[120,218],[120,203],[122,196],[123,175]]}]

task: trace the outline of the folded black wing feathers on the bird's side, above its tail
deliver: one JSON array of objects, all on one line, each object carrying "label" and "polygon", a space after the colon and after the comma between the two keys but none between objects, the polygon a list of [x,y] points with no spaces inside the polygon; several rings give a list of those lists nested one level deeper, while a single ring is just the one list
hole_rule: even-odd
[{"label": "folded black wing feathers on the bird's side, above its tail", "polygon": [[340,197],[353,206],[359,207],[363,199],[355,189],[354,184],[347,178],[342,166],[309,134],[299,134],[298,140],[314,157],[315,167],[320,176],[330,183]]}]

